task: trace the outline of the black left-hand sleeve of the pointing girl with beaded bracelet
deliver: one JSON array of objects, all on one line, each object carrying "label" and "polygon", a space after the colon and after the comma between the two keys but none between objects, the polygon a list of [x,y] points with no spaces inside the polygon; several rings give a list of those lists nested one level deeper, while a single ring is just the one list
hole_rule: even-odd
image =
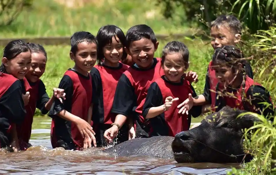
[{"label": "black left-hand sleeve of the pointing girl with beaded bracelet", "polygon": [[146,101],[143,106],[143,117],[146,118],[148,110],[151,107],[158,107],[163,104],[163,97],[161,90],[156,82],[151,83],[148,88],[148,94],[146,96]]}]

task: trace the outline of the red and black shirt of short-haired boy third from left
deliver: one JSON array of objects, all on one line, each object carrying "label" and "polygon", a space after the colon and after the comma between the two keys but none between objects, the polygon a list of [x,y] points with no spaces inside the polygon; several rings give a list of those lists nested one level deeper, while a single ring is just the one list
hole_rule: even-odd
[{"label": "red and black shirt of short-haired boy third from left", "polygon": [[88,121],[88,110],[92,101],[91,75],[84,76],[73,69],[68,69],[59,83],[64,89],[66,99],[63,103],[55,99],[49,116],[52,118],[51,143],[53,148],[80,149],[83,147],[82,138],[75,123],[57,116],[62,110]]}]

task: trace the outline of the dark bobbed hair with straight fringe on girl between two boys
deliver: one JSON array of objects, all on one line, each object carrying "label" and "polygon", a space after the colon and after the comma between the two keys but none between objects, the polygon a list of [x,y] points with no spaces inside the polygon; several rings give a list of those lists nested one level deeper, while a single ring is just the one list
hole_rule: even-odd
[{"label": "dark bobbed hair with straight fringe on girl between two boys", "polygon": [[[118,37],[119,39],[118,42],[121,42],[123,44],[123,47],[125,47],[126,46],[125,34],[119,27],[115,25],[105,25],[99,29],[96,37],[98,41],[98,50],[99,50],[97,54],[98,65],[101,65],[101,61],[104,58],[104,54],[102,51],[103,48],[107,44],[112,43],[112,38],[115,36]],[[125,52],[125,50],[123,50],[123,56],[121,58],[122,62],[125,61],[127,55],[128,54]]]}]

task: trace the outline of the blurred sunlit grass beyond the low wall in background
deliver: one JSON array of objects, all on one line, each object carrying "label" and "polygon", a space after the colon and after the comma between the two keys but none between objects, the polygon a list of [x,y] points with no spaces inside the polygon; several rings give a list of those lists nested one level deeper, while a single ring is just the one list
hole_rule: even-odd
[{"label": "blurred sunlit grass beyond the low wall in background", "polygon": [[10,26],[0,27],[0,37],[70,36],[80,30],[96,35],[106,24],[115,24],[124,32],[136,24],[147,24],[156,34],[189,30],[181,22],[185,17],[183,10],[178,10],[173,20],[166,20],[155,0],[86,1],[82,8],[68,8],[53,0],[33,1],[33,6],[25,9]]}]

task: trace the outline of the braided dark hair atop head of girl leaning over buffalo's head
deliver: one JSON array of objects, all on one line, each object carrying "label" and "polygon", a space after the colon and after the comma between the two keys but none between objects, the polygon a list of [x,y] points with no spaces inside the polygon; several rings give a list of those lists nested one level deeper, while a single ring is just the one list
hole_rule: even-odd
[{"label": "braided dark hair atop head of girl leaning over buffalo's head", "polygon": [[234,46],[223,46],[215,50],[213,63],[231,68],[236,68],[241,63],[245,67],[245,59],[241,58],[243,58],[243,54],[238,48]]}]

